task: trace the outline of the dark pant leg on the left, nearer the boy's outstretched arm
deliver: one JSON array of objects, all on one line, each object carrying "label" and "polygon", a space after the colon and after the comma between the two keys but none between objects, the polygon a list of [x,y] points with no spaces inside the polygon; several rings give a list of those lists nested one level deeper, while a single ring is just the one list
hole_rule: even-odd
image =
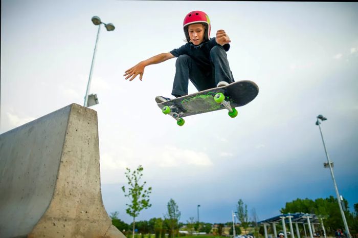
[{"label": "dark pant leg on the left, nearer the boy's outstretched arm", "polygon": [[213,88],[211,72],[200,70],[189,55],[180,55],[175,62],[175,77],[171,94],[175,97],[187,95],[189,79],[198,91]]}]

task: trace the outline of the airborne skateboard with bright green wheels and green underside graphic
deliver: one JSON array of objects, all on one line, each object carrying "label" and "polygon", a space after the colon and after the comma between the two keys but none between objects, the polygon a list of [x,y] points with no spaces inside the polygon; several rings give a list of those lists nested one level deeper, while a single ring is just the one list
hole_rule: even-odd
[{"label": "airborne skateboard with bright green wheels and green underside graphic", "polygon": [[158,103],[162,112],[170,115],[180,126],[184,125],[183,117],[227,109],[234,118],[238,112],[235,107],[243,106],[255,99],[259,93],[256,83],[241,80],[213,89],[192,93],[182,97]]}]

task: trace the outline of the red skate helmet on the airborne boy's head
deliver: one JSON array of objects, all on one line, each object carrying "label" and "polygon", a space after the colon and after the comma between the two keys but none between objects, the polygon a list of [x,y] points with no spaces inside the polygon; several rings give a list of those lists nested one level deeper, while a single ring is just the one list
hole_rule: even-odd
[{"label": "red skate helmet on the airborne boy's head", "polygon": [[207,26],[207,29],[205,29],[205,33],[204,33],[204,40],[208,40],[210,38],[210,30],[211,30],[209,16],[202,11],[192,11],[185,16],[183,22],[184,34],[185,37],[187,38],[187,41],[188,42],[190,41],[188,26],[190,24],[195,24],[195,23],[203,23]]}]

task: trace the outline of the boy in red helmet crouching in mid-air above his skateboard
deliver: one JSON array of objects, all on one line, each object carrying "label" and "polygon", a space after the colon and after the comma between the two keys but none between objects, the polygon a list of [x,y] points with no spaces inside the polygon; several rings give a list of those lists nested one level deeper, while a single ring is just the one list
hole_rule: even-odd
[{"label": "boy in red helmet crouching in mid-air above his skateboard", "polygon": [[[177,57],[172,95],[180,97],[188,94],[189,79],[198,91],[224,86],[234,82],[226,52],[230,49],[229,36],[218,30],[216,37],[210,38],[210,19],[202,11],[192,11],[184,18],[184,34],[187,44],[168,53],[161,53],[139,62],[125,71],[129,81],[138,75],[142,80],[144,68]],[[158,96],[157,103],[169,100]]]}]

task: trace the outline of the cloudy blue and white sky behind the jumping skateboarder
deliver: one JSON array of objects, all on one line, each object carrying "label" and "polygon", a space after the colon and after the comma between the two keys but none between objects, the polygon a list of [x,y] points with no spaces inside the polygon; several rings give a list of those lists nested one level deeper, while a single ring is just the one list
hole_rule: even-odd
[{"label": "cloudy blue and white sky behind the jumping skateboarder", "polygon": [[[206,12],[211,37],[224,29],[236,81],[259,94],[230,118],[225,110],[186,117],[180,127],[155,96],[170,97],[175,58],[125,70],[185,44],[183,19]],[[239,199],[258,219],[286,202],[335,197],[321,124],[340,194],[358,203],[358,3],[220,1],[1,1],[0,133],[71,103],[83,105],[98,26],[90,94],[98,113],[101,191],[108,213],[127,223],[125,169],[144,167],[152,206],[137,220],[163,218],[173,199],[203,222],[231,221]],[[189,93],[196,92],[189,83]]]}]

